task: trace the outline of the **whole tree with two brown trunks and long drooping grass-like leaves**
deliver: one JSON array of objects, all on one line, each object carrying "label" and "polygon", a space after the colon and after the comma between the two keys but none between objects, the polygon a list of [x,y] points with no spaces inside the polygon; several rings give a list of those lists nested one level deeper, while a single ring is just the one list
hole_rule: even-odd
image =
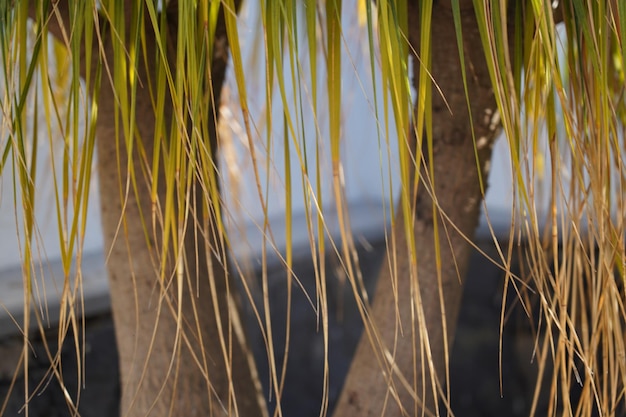
[{"label": "whole tree with two brown trunks and long drooping grass-like leaves", "polygon": [[[402,179],[386,260],[370,302],[352,255],[340,175],[341,16],[350,11],[342,10],[340,0],[296,3],[276,0],[260,6],[267,100],[285,101],[284,83],[300,81],[295,64],[303,48],[299,33],[306,34],[311,73],[321,47],[328,77],[318,85],[312,76],[307,85],[312,105],[300,100],[289,110],[283,102],[282,120],[268,116],[267,131],[282,122],[287,147],[299,146],[305,136],[330,143],[342,230],[330,249],[340,256],[365,326],[335,415],[449,412],[454,394],[447,382],[449,347],[491,147],[501,127],[510,149],[515,215],[512,244],[494,242],[500,256],[493,262],[506,272],[506,290],[524,294],[521,288],[528,289],[539,304],[537,392],[548,384],[551,414],[616,415],[626,386],[621,157],[626,34],[620,29],[626,25],[626,6],[592,0],[362,4],[371,49],[375,40],[380,44],[385,91],[376,106],[395,120],[380,120],[381,132],[398,137],[393,163]],[[2,4],[8,92],[3,112],[10,134],[3,142],[1,168],[5,173],[13,167],[24,190],[21,201],[14,202],[24,211],[20,227],[26,236],[23,327],[41,320],[30,310],[36,280],[36,173],[27,144],[37,138],[25,133],[24,102],[37,83],[44,92],[51,89],[42,49],[52,34],[69,51],[71,83],[63,100],[52,95],[46,119],[58,118],[60,108],[87,116],[84,134],[71,122],[76,118],[64,124],[66,175],[57,182],[62,198],[56,207],[66,268],[59,339],[70,330],[79,334],[81,326],[81,235],[97,148],[122,415],[267,415],[239,312],[242,302],[251,301],[250,290],[228,262],[231,248],[215,162],[217,105],[228,51],[247,136],[254,131],[236,24],[239,1],[170,0],[162,7],[121,0]],[[28,17],[36,34],[32,47],[26,41]],[[565,56],[558,53],[559,21],[567,40]],[[374,67],[374,55],[371,59]],[[285,66],[293,68],[293,75],[283,72]],[[316,112],[320,105],[328,110],[328,137],[299,129],[302,113]],[[548,138],[545,151],[537,145],[541,132]],[[249,149],[255,165],[258,155],[254,146]],[[328,349],[323,254],[329,246],[319,203],[319,166],[309,166],[305,157],[288,161],[301,167],[301,176],[286,174],[287,201],[292,181],[305,184],[311,253],[319,271],[316,297]],[[542,165],[550,174],[550,210],[544,217],[535,209],[535,178]],[[256,180],[263,205],[268,198],[264,179]],[[289,210],[285,223],[289,231]],[[262,228],[269,242],[265,247],[271,247],[271,231],[267,224]],[[510,264],[513,243],[522,240],[529,274],[517,277]],[[289,235],[282,261],[292,282]],[[241,294],[236,281],[245,289]],[[267,288],[262,291],[266,294]],[[267,343],[272,395],[280,404],[285,364],[272,359],[268,306],[255,314]],[[43,331],[41,322],[40,327]],[[80,340],[75,343],[80,350]],[[62,383],[61,365],[50,355],[51,369]],[[553,375],[545,377],[549,363]],[[27,333],[23,366],[27,369]],[[328,372],[326,365],[325,384]],[[569,388],[576,383],[582,393],[574,400]],[[69,399],[68,405],[74,407]],[[320,409],[321,415],[328,413],[327,398]]]}]

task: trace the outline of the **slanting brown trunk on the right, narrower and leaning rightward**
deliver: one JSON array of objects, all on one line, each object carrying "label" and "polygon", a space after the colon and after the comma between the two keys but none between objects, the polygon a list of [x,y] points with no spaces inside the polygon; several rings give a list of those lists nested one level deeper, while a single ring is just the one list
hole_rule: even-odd
[{"label": "slanting brown trunk on the right, narrower and leaning rightward", "polygon": [[[410,41],[416,50],[419,50],[418,7],[414,5],[414,8],[409,9]],[[494,117],[496,104],[474,11],[470,6],[462,13],[471,117],[477,139],[480,172],[486,178],[491,146],[498,128]],[[383,353],[379,347],[373,348],[367,334],[363,335],[335,410],[336,416],[420,416],[422,412],[425,415],[429,411],[434,413],[431,369],[441,387],[438,395],[443,394],[445,398],[446,357],[453,341],[463,291],[462,277],[471,252],[471,246],[459,232],[469,238],[473,236],[482,195],[454,22],[449,5],[446,6],[445,2],[434,4],[432,34],[432,76],[441,88],[450,110],[440,95],[433,93],[433,160],[425,161],[421,175],[422,178],[430,176],[428,169],[433,166],[434,195],[449,220],[442,220],[440,216],[433,219],[433,201],[426,187],[420,186],[415,200],[413,225],[417,259],[411,259],[407,251],[403,215],[401,211],[398,212],[394,225],[396,245],[389,249],[383,263],[371,314],[380,342],[387,353]],[[414,68],[415,81],[419,71],[417,61]],[[427,152],[424,149],[425,157]],[[435,252],[434,221],[438,222],[440,231],[439,265]],[[391,265],[394,259],[397,280],[392,279]],[[416,277],[410,272],[415,264]],[[424,359],[424,352],[420,352],[421,338],[425,335],[417,327],[414,280],[419,282],[424,321],[432,349],[431,366]],[[440,300],[443,300],[443,306]],[[445,322],[442,320],[444,314]],[[422,404],[426,407],[422,407]]]}]

